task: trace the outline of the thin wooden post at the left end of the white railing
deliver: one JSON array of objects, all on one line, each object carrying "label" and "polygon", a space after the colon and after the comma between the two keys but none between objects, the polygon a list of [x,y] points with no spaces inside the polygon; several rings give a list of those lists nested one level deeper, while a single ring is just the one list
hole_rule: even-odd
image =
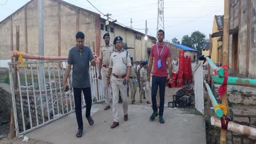
[{"label": "thin wooden post at the left end of the white railing", "polygon": [[[16,50],[19,51],[19,26],[16,26]],[[18,61],[18,57],[15,57],[15,62]],[[18,89],[18,77],[17,69],[14,71],[14,91]],[[15,99],[12,99],[15,101]],[[14,138],[14,113],[13,113],[13,103],[11,104],[11,120],[10,120],[10,138]]]}]

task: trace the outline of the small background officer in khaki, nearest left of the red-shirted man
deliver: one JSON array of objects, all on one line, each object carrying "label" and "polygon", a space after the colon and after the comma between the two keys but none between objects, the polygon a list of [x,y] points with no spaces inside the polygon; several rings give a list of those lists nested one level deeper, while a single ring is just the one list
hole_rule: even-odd
[{"label": "small background officer in khaki, nearest left of the red-shirted man", "polygon": [[150,89],[149,89],[149,82],[147,81],[147,62],[143,62],[142,63],[142,69],[141,71],[139,71],[139,73],[141,74],[141,97],[139,98],[139,101],[142,102],[142,93],[143,91],[145,91],[145,95],[146,95],[146,101],[147,104],[150,104]]}]

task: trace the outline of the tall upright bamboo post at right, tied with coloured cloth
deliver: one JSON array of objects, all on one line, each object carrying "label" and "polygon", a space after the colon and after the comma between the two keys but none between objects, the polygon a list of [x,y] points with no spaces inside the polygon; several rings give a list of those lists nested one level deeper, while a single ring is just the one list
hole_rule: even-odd
[{"label": "tall upright bamboo post at right, tied with coloured cloth", "polygon": [[[229,7],[230,0],[224,2],[224,26],[223,26],[223,65],[229,64]],[[227,106],[227,91],[222,97],[222,105]],[[225,115],[223,115],[225,119]],[[221,144],[226,143],[226,130],[221,129]]]}]

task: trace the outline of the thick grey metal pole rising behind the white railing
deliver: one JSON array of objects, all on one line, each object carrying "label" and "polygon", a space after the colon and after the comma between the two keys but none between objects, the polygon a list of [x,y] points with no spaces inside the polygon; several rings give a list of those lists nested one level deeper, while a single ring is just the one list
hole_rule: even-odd
[{"label": "thick grey metal pole rising behind the white railing", "polygon": [[[43,10],[43,1],[44,0],[38,0],[38,55],[45,55],[45,46],[44,46],[44,10]],[[44,77],[42,73],[44,73],[44,65],[43,63],[39,63],[39,75],[40,77],[40,82],[39,85],[41,85],[41,89],[45,90],[45,85],[44,85]]]}]

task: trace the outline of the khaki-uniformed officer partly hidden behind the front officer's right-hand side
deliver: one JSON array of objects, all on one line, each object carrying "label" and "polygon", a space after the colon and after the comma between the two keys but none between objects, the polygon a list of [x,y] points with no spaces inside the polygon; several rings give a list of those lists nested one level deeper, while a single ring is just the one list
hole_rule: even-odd
[{"label": "khaki-uniformed officer partly hidden behind the front officer's right-hand side", "polygon": [[131,91],[131,104],[135,102],[135,94],[137,92],[137,83],[136,83],[136,75],[137,75],[137,66],[133,63],[133,57],[131,57],[131,73],[129,80],[129,89]]}]

